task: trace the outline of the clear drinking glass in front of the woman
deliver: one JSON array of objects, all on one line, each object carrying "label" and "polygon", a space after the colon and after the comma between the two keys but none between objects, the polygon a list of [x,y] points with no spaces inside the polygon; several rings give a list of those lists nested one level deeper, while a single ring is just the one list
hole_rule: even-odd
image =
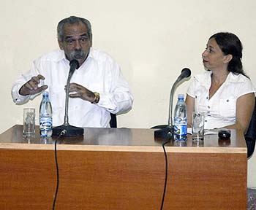
[{"label": "clear drinking glass in front of the woman", "polygon": [[203,141],[204,135],[204,112],[193,112],[192,116],[192,140]]}]

